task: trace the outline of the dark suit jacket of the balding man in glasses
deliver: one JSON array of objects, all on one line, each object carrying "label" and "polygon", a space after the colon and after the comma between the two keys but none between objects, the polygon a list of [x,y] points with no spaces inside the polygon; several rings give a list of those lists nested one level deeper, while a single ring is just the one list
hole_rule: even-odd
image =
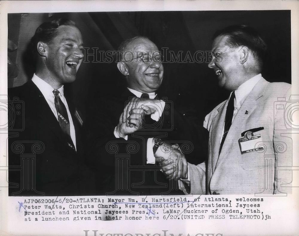
[{"label": "dark suit jacket of the balding man in glasses", "polygon": [[182,194],[174,187],[177,181],[170,183],[158,166],[147,164],[147,139],[160,137],[163,141],[178,143],[188,161],[199,164],[207,156],[208,132],[202,126],[196,129],[176,111],[175,104],[166,101],[160,120],[154,122],[149,118],[152,128],[128,135],[127,141],[115,138],[115,126],[129,97],[135,95],[126,89],[120,94],[89,101],[83,130],[86,157],[97,176],[95,194]]}]

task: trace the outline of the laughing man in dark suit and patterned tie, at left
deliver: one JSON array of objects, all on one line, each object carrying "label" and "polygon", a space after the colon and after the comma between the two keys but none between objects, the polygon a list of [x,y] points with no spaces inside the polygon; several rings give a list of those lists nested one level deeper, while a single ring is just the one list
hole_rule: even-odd
[{"label": "laughing man in dark suit and patterned tie, at left", "polygon": [[14,119],[8,139],[9,195],[85,195],[91,183],[84,177],[82,119],[64,93],[83,59],[82,35],[74,22],[57,19],[36,29],[31,46],[32,80],[8,90],[9,98],[24,106],[22,116],[8,117]]}]

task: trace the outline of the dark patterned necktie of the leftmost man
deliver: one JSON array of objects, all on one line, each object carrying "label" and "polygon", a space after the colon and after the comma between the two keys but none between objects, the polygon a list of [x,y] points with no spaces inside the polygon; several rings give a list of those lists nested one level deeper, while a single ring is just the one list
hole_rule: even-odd
[{"label": "dark patterned necktie of the leftmost man", "polygon": [[65,134],[65,137],[68,141],[68,145],[75,150],[74,143],[71,139],[71,133],[70,133],[70,122],[68,119],[68,112],[66,111],[66,107],[61,101],[59,97],[59,91],[57,89],[53,90],[54,94],[54,103],[55,103],[55,108],[58,114],[58,122],[60,125],[60,128],[62,129],[62,132]]}]

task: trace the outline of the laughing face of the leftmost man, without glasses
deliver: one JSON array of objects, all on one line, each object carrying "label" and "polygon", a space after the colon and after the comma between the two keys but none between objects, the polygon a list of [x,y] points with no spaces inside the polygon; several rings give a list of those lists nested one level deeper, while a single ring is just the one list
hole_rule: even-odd
[{"label": "laughing face of the leftmost man, without glasses", "polygon": [[45,66],[57,84],[74,82],[83,59],[83,40],[77,27],[61,25],[47,45]]}]

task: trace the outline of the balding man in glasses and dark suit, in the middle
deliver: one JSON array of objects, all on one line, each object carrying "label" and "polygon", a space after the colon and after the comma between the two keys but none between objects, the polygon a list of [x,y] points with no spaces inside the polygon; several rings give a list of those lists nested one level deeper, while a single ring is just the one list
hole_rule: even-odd
[{"label": "balding man in glasses and dark suit, in the middle", "polygon": [[182,194],[155,165],[155,143],[172,140],[198,164],[206,155],[207,133],[155,93],[164,68],[153,42],[134,37],[119,51],[117,67],[127,88],[97,99],[85,122],[87,158],[97,173],[95,194]]}]

